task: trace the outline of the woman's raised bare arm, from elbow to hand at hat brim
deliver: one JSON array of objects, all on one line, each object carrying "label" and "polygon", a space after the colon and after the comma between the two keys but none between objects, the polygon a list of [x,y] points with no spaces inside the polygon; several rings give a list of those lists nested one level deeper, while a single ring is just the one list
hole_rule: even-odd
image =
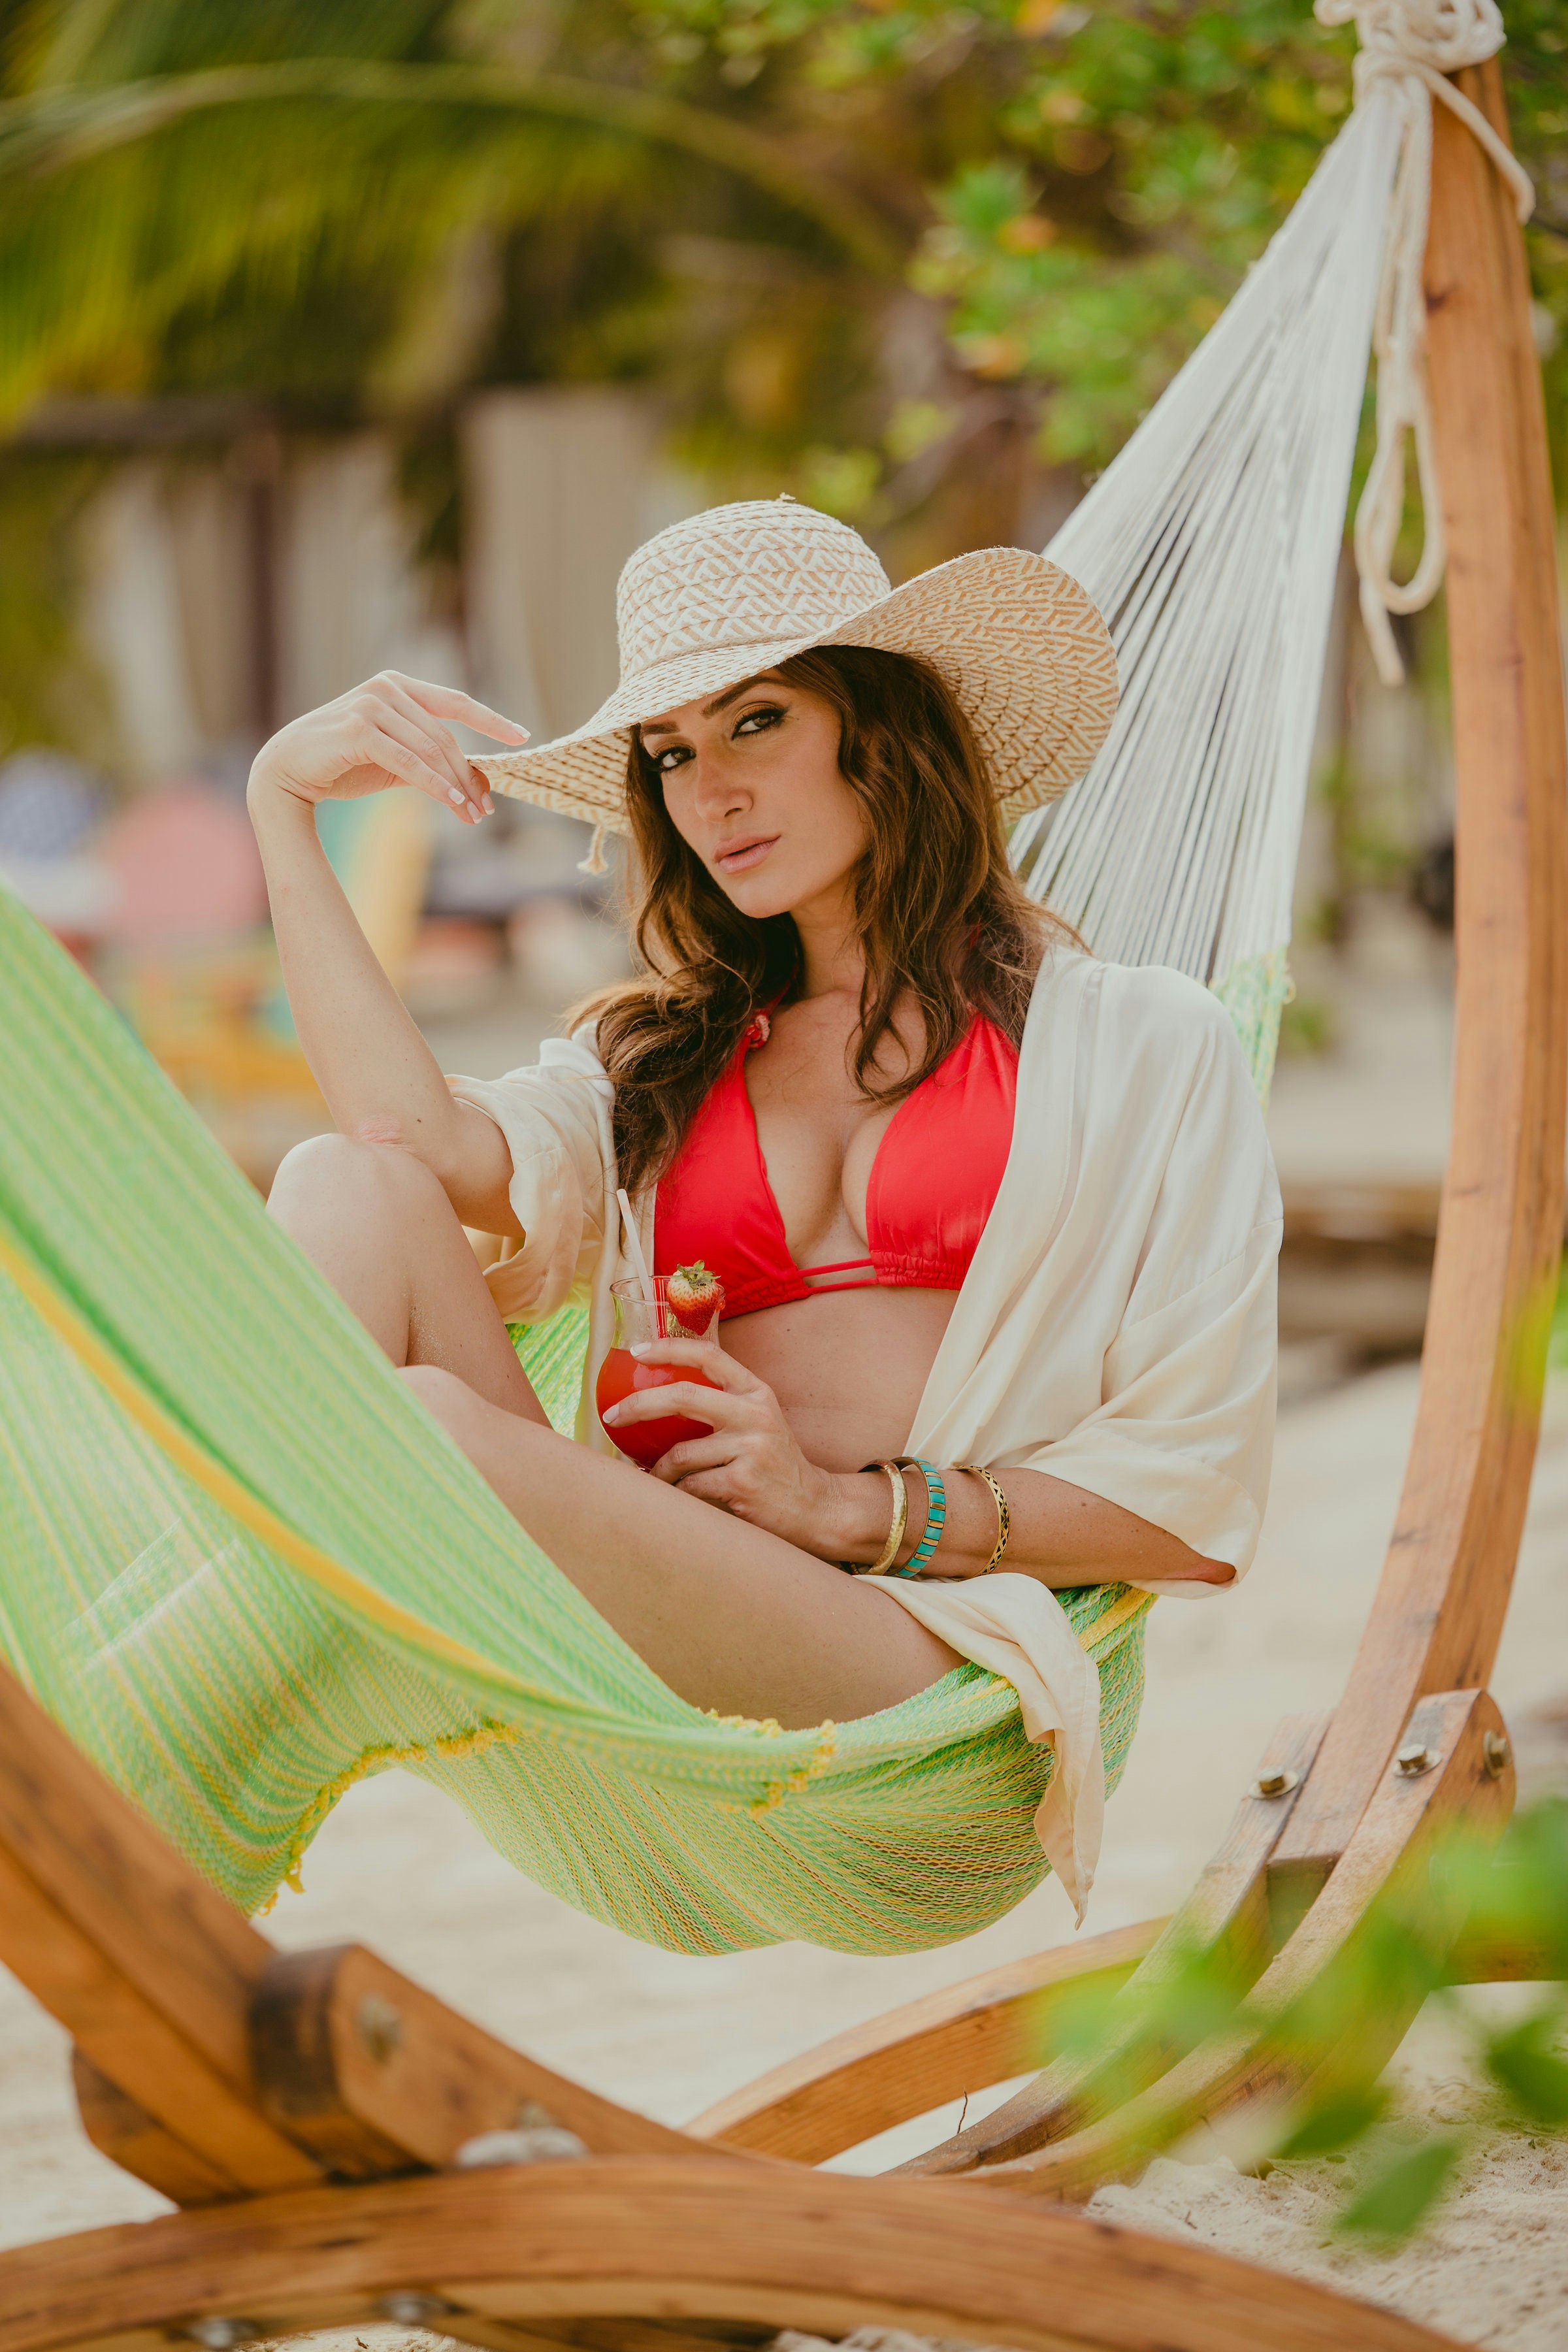
[{"label": "woman's raised bare arm, from elbow to hand at hat brim", "polygon": [[294,1025],[341,1134],[400,1145],[440,1178],[463,1223],[515,1232],[505,1136],[447,1091],[315,830],[322,800],[360,800],[400,783],[477,826],[491,802],[447,720],[501,743],[527,741],[524,727],[468,694],[383,670],[261,746],[249,809]]}]

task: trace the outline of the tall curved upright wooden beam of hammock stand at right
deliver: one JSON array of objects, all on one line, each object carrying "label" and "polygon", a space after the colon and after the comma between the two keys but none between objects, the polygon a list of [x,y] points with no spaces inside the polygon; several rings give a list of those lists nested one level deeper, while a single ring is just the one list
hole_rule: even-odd
[{"label": "tall curved upright wooden beam of hammock stand at right", "polygon": [[[1458,75],[1507,136],[1497,61]],[[1453,1145],[1394,1543],[1276,1856],[1347,1844],[1425,1691],[1490,1677],[1563,1235],[1568,854],[1554,501],[1514,198],[1434,106],[1427,353],[1458,783]]]}]

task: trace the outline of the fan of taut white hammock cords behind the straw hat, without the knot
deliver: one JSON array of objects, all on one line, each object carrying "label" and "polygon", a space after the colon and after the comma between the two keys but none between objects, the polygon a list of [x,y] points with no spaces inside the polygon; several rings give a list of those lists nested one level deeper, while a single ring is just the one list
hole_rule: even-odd
[{"label": "fan of taut white hammock cords behind the straw hat, without the knot", "polygon": [[1048,548],[1110,619],[1121,708],[1013,854],[1095,955],[1222,981],[1291,934],[1399,136],[1382,92],[1352,113]]}]

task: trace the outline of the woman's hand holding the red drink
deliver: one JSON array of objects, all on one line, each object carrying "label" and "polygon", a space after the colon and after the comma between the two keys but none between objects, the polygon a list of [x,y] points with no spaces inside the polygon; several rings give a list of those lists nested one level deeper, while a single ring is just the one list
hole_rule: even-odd
[{"label": "woman's hand holding the red drink", "polygon": [[644,1364],[689,1367],[717,1383],[639,1388],[604,1414],[611,1430],[661,1421],[665,1414],[712,1423],[712,1437],[691,1437],[661,1454],[654,1477],[731,1510],[750,1526],[766,1526],[820,1559],[837,1559],[842,1543],[849,1548],[844,1489],[858,1479],[839,1479],[806,1461],[766,1381],[705,1338],[663,1338],[635,1352]]}]

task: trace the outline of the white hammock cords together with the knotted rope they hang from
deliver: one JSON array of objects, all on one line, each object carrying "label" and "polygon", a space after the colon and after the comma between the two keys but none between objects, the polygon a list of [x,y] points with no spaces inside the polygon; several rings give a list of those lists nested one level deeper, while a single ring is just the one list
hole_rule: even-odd
[{"label": "white hammock cords together with the knotted rope they hang from", "polygon": [[[1354,19],[1356,103],[1267,252],[1046,550],[1112,626],[1121,708],[1084,783],[1027,816],[1030,889],[1098,955],[1175,964],[1227,1004],[1260,1094],[1286,1002],[1291,898],[1333,616],[1342,517],[1378,350],[1378,452],[1356,515],[1378,668],[1403,675],[1389,612],[1443,569],[1425,395],[1422,259],[1432,101],[1509,181],[1530,181],[1443,73],[1502,45],[1495,0],[1316,0]],[[1427,543],[1389,564],[1415,437]]]}]

